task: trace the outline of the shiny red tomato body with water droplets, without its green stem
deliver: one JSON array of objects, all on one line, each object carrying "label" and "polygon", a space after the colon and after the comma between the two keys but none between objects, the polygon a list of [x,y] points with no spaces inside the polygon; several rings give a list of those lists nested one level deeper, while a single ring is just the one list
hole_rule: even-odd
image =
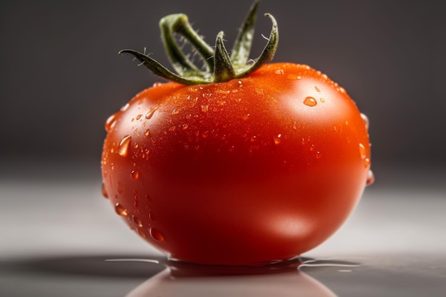
[{"label": "shiny red tomato body with water droplets, without its green stem", "polygon": [[106,128],[105,195],[150,244],[199,264],[261,265],[313,249],[356,206],[370,168],[353,100],[299,64],[157,84]]}]

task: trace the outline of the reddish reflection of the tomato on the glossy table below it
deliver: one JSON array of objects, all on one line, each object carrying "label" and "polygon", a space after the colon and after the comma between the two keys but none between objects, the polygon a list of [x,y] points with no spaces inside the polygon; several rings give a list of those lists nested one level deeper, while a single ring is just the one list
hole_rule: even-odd
[{"label": "reddish reflection of the tomato on the glossy table below it", "polygon": [[[329,288],[308,274],[296,268],[277,273],[271,271],[251,271],[235,267],[234,271],[218,271],[201,266],[202,271],[168,267],[156,276],[149,278],[128,293],[126,297],[147,296],[194,296],[194,297],[228,297],[228,296],[294,296],[294,297],[336,297]],[[214,266],[210,266],[214,268]],[[248,275],[239,275],[242,270]],[[209,294],[209,292],[212,292]]]}]

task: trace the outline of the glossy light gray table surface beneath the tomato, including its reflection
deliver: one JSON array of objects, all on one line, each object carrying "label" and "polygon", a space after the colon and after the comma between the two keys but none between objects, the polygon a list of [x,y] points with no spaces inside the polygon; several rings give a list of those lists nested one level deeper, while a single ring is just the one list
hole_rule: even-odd
[{"label": "glossy light gray table surface beneath the tomato, including its reflection", "polygon": [[22,173],[0,174],[0,296],[446,296],[444,172],[383,170],[330,239],[262,268],[167,261],[95,170]]}]

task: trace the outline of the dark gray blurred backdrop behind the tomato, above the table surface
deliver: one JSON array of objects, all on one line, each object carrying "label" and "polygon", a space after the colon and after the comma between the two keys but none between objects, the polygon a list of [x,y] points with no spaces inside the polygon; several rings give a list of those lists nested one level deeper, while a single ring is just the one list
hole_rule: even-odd
[{"label": "dark gray blurred backdrop behind the tomato, above the table surface", "polygon": [[[184,12],[230,48],[251,1],[1,1],[0,152],[7,160],[98,164],[103,123],[155,78],[122,48],[167,63],[158,21]],[[380,165],[446,164],[446,1],[263,0],[279,22],[274,61],[306,63],[370,118]],[[259,14],[253,56],[269,34]]]}]

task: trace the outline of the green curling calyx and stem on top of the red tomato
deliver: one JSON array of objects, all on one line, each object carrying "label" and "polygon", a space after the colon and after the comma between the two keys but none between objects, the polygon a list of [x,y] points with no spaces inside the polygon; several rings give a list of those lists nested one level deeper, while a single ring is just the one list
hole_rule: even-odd
[{"label": "green curling calyx and stem on top of the red tomato", "polygon": [[[218,33],[214,49],[192,28],[185,14],[171,14],[160,21],[162,42],[176,73],[168,70],[145,53],[125,49],[120,51],[119,54],[131,53],[141,62],[140,65],[146,66],[155,75],[184,85],[222,83],[234,78],[242,78],[271,61],[279,41],[276,19],[271,14],[265,14],[272,23],[271,33],[260,56],[255,60],[249,59],[258,4],[259,1],[255,1],[249,9],[230,55],[223,43],[223,31]],[[185,38],[195,48],[195,51],[204,61],[204,69],[195,66],[190,58],[183,53],[175,40],[175,34]]]}]

